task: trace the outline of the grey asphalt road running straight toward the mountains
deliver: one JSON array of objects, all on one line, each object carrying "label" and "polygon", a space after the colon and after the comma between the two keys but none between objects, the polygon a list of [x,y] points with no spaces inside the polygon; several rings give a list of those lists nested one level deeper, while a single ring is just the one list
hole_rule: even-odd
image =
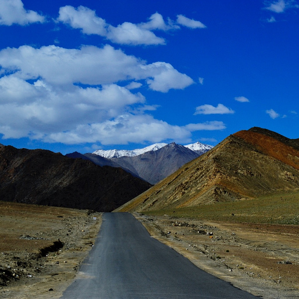
[{"label": "grey asphalt road running straight toward the mountains", "polygon": [[253,299],[151,238],[129,213],[104,213],[95,246],[63,299]]}]

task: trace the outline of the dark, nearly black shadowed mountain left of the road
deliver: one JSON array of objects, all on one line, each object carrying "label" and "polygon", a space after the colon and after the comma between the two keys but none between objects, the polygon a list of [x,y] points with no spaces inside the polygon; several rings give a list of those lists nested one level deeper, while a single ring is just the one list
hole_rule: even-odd
[{"label": "dark, nearly black shadowed mountain left of the road", "polygon": [[0,200],[112,211],[149,187],[122,168],[49,150],[0,147]]}]

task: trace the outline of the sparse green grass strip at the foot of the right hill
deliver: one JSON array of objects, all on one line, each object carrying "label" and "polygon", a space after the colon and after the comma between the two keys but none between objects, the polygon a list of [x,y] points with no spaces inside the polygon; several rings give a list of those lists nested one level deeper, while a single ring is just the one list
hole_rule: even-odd
[{"label": "sparse green grass strip at the foot of the right hill", "polygon": [[143,212],[149,215],[187,217],[198,220],[233,223],[267,223],[299,225],[299,191],[284,192],[256,199],[217,202],[178,209]]}]

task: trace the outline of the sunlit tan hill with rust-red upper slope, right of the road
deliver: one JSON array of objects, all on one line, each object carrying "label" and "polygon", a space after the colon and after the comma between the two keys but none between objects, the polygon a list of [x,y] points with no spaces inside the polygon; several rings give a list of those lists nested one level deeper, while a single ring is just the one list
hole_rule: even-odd
[{"label": "sunlit tan hill with rust-red upper slope, right of the road", "polygon": [[252,128],[229,136],[118,210],[178,208],[288,190],[299,190],[299,141]]}]

